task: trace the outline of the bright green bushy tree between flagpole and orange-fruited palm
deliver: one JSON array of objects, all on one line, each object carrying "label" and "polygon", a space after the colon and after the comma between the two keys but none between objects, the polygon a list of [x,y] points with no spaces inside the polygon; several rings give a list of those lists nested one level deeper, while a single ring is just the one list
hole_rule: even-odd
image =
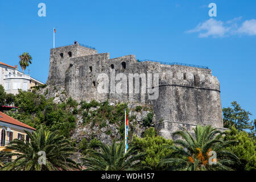
[{"label": "bright green bushy tree between flagpole and orange-fruited palm", "polygon": [[156,135],[153,127],[145,131],[144,138],[134,136],[131,142],[131,146],[146,154],[141,159],[142,165],[148,166],[152,170],[163,170],[158,164],[161,160],[172,154],[172,150],[167,148],[167,146],[172,144],[172,140]]}]

